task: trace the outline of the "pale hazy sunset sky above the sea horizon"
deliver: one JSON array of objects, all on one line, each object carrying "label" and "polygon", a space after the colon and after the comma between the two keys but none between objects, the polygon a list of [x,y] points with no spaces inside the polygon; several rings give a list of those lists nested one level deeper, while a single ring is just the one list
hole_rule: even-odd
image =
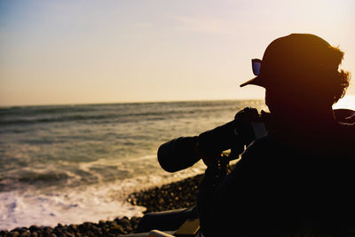
[{"label": "pale hazy sunset sky above the sea horizon", "polygon": [[353,12],[352,0],[0,0],[0,106],[263,99],[239,84],[291,33],[339,46],[354,75]]}]

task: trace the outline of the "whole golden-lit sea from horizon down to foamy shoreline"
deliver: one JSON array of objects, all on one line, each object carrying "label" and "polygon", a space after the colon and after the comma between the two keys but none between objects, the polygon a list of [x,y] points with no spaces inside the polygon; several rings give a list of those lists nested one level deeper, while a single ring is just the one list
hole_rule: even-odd
[{"label": "whole golden-lit sea from horizon down to foamy shoreline", "polygon": [[0,108],[0,230],[142,216],[132,192],[203,172],[168,173],[162,143],[233,120],[263,100]]}]

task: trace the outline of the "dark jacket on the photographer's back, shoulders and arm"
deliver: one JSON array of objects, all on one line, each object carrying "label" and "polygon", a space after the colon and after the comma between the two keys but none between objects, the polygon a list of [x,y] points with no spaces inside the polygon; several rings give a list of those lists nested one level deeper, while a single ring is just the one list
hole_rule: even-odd
[{"label": "dark jacket on the photographer's back, shoulders and arm", "polygon": [[206,170],[201,230],[205,236],[347,232],[355,223],[354,189],[355,124],[337,122],[304,138],[276,130],[248,146],[228,175]]}]

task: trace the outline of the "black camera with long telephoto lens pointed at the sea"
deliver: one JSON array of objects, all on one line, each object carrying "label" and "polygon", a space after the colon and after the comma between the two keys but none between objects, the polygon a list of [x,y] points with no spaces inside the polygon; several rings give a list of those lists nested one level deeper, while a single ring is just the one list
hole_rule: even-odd
[{"label": "black camera with long telephoto lens pointed at the sea", "polygon": [[202,132],[199,136],[174,138],[162,144],[158,149],[158,162],[163,170],[176,172],[193,166],[200,161],[197,153],[219,156],[231,150],[228,159],[237,159],[256,138],[266,135],[270,125],[270,113],[258,113],[256,108],[246,107],[239,111],[234,120],[213,130]]}]

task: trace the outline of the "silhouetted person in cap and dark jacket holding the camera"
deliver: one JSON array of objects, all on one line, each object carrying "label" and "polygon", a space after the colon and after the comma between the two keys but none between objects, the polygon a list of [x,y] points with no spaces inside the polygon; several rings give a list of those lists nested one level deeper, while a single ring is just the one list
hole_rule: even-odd
[{"label": "silhouetted person in cap and dark jacket holding the camera", "polygon": [[332,109],[350,81],[338,70],[342,59],[320,37],[292,34],[253,60],[257,76],[241,86],[265,88],[272,130],[228,175],[200,151],[208,166],[198,199],[205,236],[355,230],[355,124],[337,122]]}]

